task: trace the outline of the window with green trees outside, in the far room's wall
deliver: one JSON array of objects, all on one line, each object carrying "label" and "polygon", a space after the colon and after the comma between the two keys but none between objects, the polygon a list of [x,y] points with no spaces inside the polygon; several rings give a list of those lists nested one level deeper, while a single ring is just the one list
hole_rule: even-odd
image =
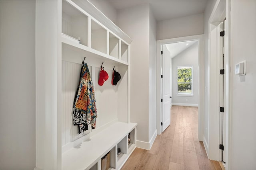
[{"label": "window with green trees outside, in the far room's wall", "polygon": [[192,66],[177,67],[177,93],[192,94]]}]

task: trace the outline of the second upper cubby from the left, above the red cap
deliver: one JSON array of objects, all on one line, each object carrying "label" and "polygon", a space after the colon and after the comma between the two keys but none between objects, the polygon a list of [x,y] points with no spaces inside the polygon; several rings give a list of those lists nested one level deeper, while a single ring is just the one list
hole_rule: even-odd
[{"label": "second upper cubby from the left, above the red cap", "polygon": [[92,49],[107,54],[107,30],[92,20]]}]

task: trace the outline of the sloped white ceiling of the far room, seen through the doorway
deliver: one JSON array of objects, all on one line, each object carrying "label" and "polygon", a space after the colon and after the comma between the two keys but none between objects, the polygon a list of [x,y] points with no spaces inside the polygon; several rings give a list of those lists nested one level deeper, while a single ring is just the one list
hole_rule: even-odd
[{"label": "sloped white ceiling of the far room, seen through the doorway", "polygon": [[172,44],[166,44],[166,47],[168,51],[170,51],[171,53],[171,58],[173,58],[196,42],[198,41],[185,41],[180,43],[172,43]]}]

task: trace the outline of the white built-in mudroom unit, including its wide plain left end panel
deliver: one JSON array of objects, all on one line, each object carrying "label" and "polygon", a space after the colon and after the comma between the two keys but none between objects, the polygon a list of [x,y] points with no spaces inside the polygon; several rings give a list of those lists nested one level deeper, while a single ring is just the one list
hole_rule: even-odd
[{"label": "white built-in mudroom unit, including its wide plain left end panel", "polygon": [[[42,64],[36,64],[35,169],[101,170],[101,158],[110,152],[109,170],[119,170],[136,148],[137,123],[130,122],[132,39],[88,0],[38,1],[36,22],[36,63]],[[90,71],[98,117],[95,129],[88,125],[79,134],[72,110],[82,61]],[[100,85],[102,63],[109,78]],[[116,85],[113,68],[121,76]]]}]

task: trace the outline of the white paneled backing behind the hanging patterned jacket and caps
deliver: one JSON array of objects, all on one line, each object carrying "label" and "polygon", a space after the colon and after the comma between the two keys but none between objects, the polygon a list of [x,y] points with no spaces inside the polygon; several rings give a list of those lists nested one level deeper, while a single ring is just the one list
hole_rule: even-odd
[{"label": "white paneled backing behind the hanging patterned jacket and caps", "polygon": [[[92,67],[88,64],[92,76],[96,108],[98,117],[96,119],[96,129],[107,123],[117,121],[118,118],[118,86],[111,84],[112,70],[108,72],[108,80],[103,86],[98,85],[100,68]],[[80,70],[82,64],[62,61],[62,146],[82,137],[78,135],[78,127],[73,125],[72,109],[74,97],[80,80]],[[93,77],[95,75],[95,78]],[[88,134],[89,131],[86,133]]]}]

